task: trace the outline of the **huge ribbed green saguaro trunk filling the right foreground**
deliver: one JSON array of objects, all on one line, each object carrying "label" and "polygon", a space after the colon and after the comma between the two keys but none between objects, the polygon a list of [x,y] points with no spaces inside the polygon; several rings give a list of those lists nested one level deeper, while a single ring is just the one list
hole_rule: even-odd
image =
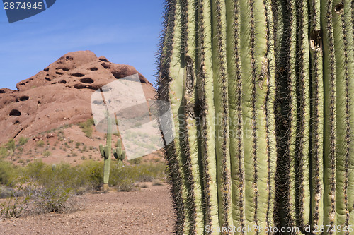
[{"label": "huge ribbed green saguaro trunk filling the right foreground", "polygon": [[176,234],[353,231],[353,38],[347,0],[166,1]]}]

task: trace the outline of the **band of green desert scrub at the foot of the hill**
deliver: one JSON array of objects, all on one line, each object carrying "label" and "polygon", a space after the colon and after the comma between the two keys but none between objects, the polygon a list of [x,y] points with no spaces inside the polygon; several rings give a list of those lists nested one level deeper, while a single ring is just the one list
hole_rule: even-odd
[{"label": "band of green desert scrub at the foot of the hill", "polygon": [[[109,186],[132,191],[139,183],[165,179],[164,163],[126,164],[114,161]],[[32,162],[19,167],[0,160],[0,217],[21,217],[47,212],[72,212],[85,204],[78,196],[103,186],[103,162],[84,161],[76,166]]]}]

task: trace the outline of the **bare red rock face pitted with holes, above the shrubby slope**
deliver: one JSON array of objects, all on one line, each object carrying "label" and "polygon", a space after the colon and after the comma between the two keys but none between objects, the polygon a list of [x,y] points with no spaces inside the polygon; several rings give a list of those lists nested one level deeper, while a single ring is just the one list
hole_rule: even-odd
[{"label": "bare red rock face pitted with holes, above the shrubby slope", "polygon": [[116,79],[138,73],[145,96],[154,98],[152,84],[134,67],[110,63],[93,52],[69,52],[35,76],[0,89],[0,144],[89,119],[91,94]]}]

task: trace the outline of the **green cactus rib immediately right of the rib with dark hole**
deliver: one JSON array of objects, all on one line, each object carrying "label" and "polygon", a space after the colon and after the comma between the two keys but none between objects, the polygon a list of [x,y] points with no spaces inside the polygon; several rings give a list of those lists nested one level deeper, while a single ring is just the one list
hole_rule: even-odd
[{"label": "green cactus rib immediately right of the rib with dark hole", "polygon": [[[324,25],[324,224],[336,223],[336,58],[332,23],[333,1],[321,1]],[[333,234],[331,232],[331,234]]]}]

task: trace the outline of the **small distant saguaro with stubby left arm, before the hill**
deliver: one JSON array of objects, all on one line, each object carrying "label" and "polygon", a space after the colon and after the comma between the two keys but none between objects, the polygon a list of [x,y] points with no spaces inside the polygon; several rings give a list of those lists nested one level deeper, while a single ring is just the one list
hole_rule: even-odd
[{"label": "small distant saguaro with stubby left arm, before the hill", "polygon": [[112,121],[109,115],[107,115],[107,140],[105,146],[100,145],[101,156],[105,160],[103,167],[103,191],[108,191],[108,180],[110,177],[110,150],[112,144]]}]

